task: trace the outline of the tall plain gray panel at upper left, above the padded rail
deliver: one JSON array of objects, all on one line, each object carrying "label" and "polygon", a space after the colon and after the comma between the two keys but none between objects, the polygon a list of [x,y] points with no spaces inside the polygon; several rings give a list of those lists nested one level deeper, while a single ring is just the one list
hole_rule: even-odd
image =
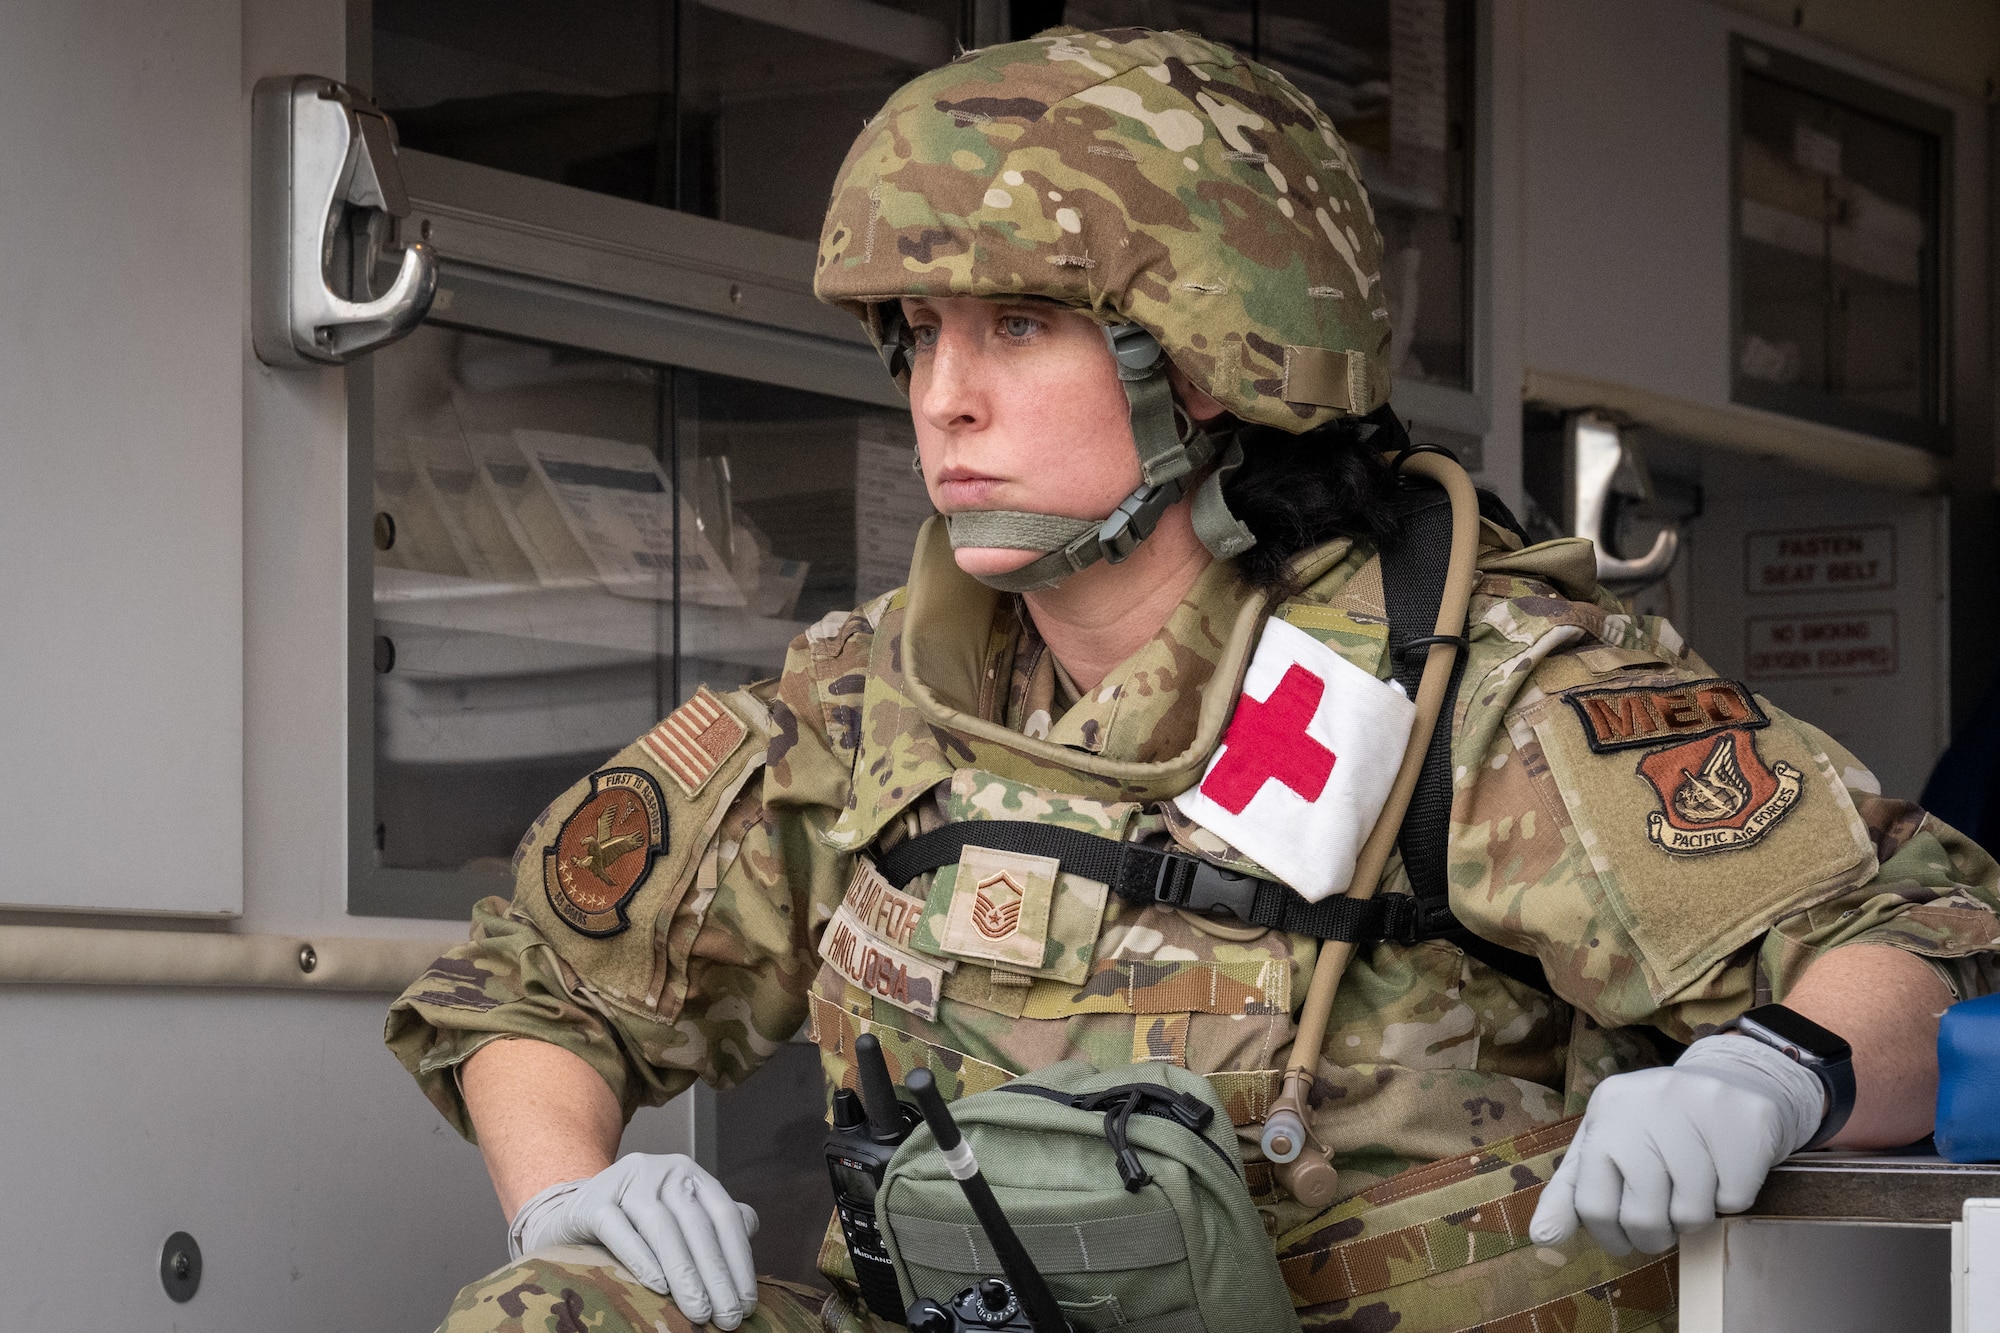
[{"label": "tall plain gray panel at upper left, above the padded rail", "polygon": [[240,50],[0,6],[0,905],[242,907]]}]

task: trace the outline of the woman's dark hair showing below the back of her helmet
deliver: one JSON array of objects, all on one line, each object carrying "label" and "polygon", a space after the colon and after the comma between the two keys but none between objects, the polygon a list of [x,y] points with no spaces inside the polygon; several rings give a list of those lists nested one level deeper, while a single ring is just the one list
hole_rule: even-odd
[{"label": "woman's dark hair showing below the back of her helmet", "polygon": [[1250,586],[1292,590],[1292,556],[1336,536],[1380,544],[1396,534],[1396,478],[1384,450],[1406,436],[1386,408],[1304,434],[1246,424],[1238,438],[1244,464],[1222,498],[1256,534],[1256,546],[1236,556]]}]

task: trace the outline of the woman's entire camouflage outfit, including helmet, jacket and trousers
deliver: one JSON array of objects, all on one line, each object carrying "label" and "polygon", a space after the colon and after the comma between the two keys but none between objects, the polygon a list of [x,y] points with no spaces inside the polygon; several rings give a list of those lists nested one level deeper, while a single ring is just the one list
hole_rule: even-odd
[{"label": "woman's entire camouflage outfit, including helmet, jacket and trousers", "polygon": [[[1386,396],[1378,248],[1346,148],[1276,74],[1186,34],[1044,34],[912,82],[870,122],[818,288],[878,336],[902,292],[1058,296],[1146,324],[1232,412],[1300,430]],[[1528,1247],[1566,1117],[1658,1063],[1648,1031],[1692,1041],[1836,945],[1896,945],[1984,993],[2000,869],[1624,612],[1588,542],[1486,536],[1450,719],[1452,907],[1536,955],[1554,997],[1444,941],[1358,951],[1312,1089],[1358,1193],[1318,1217],[1274,1187],[1254,1131],[1312,939],[1064,875],[1038,959],[978,959],[950,947],[960,867],[886,897],[866,855],[946,821],[1036,819],[1240,861],[1166,803],[1214,755],[1270,616],[1390,675],[1380,560],[1348,540],[1298,556],[1282,602],[1212,564],[1076,699],[1020,600],[958,572],[932,522],[908,588],[812,626],[776,681],[698,693],[564,793],[516,853],[514,901],[482,903],[470,943],[394,1005],[390,1047],[466,1135],[456,1069],[504,1037],[576,1053],[626,1115],[696,1077],[738,1083],[802,1025],[832,1085],[872,1031],[896,1077],[928,1067],[948,1097],[1070,1057],[1174,1061],[1248,1131],[1306,1327],[1670,1325],[1672,1257]],[[1408,891],[1392,861],[1382,893]],[[824,1311],[768,1285],[746,1327],[872,1327],[836,1229],[822,1269]],[[684,1325],[602,1253],[564,1251],[474,1283],[446,1329],[654,1321]]]}]

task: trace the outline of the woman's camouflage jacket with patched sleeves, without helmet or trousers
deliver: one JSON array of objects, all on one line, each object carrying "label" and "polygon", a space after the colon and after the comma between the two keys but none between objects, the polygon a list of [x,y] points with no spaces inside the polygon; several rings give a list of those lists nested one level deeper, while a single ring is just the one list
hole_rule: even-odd
[{"label": "woman's camouflage jacket with patched sleeves, without helmet or trousers", "polygon": [[[1466,927],[1536,955],[1554,997],[1442,941],[1360,951],[1314,1085],[1344,1189],[1574,1113],[1606,1075],[1660,1059],[1652,1033],[1686,1043],[1782,999],[1836,945],[1896,945],[1960,997],[1990,989],[2000,869],[1976,845],[1718,683],[1668,622],[1620,610],[1586,542],[1486,538],[1452,717],[1450,895]],[[858,853],[944,821],[1040,819],[1228,861],[1162,807],[1200,779],[1266,618],[1388,677],[1374,552],[1338,540],[1296,568],[1302,592],[1274,604],[1210,566],[1070,703],[1018,600],[960,574],[934,522],[908,588],[814,624],[776,681],[702,691],[550,805],[514,901],[480,903],[472,939],[396,1001],[390,1047],[466,1135],[454,1071],[500,1037],[580,1055],[630,1115],[696,1077],[738,1083],[800,1027],[836,1081],[852,1083],[858,1031],[948,1095],[1066,1057],[1164,1059],[1256,1123],[1310,939],[1062,877],[1040,967],[944,957],[924,881],[878,941],[916,973],[862,989],[880,969],[820,947]],[[1396,863],[1384,893],[1408,893]],[[1252,1185],[1274,1235],[1304,1221],[1268,1177]]]}]

